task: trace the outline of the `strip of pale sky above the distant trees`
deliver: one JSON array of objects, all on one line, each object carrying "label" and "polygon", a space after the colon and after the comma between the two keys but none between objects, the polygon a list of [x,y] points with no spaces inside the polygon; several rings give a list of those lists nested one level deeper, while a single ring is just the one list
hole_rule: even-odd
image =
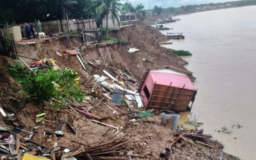
[{"label": "strip of pale sky above the distant trees", "polygon": [[[122,3],[125,3],[126,1],[127,0],[121,0]],[[145,9],[152,9],[155,5],[168,8],[170,6],[186,6],[190,4],[219,3],[227,1],[237,0],[129,0],[134,6],[142,3],[145,6]]]}]

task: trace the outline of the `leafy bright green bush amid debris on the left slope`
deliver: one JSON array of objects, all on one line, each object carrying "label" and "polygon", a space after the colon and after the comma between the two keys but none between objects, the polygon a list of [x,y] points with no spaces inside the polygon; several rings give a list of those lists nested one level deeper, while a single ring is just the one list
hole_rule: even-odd
[{"label": "leafy bright green bush amid debris on the left slope", "polygon": [[80,84],[76,83],[77,73],[70,68],[59,70],[49,69],[46,72],[39,70],[31,72],[22,83],[29,95],[41,103],[51,98],[54,109],[60,109],[68,100],[83,101],[83,92]]}]

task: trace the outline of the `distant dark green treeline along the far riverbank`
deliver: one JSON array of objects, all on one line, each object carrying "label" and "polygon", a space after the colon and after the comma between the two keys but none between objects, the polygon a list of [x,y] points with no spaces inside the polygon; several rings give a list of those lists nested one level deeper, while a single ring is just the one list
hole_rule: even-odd
[{"label": "distant dark green treeline along the far riverbank", "polygon": [[225,3],[209,3],[180,6],[179,8],[169,7],[163,8],[161,15],[182,15],[194,12],[203,12],[207,10],[218,10],[223,8],[234,8],[239,6],[251,6],[256,5],[256,0],[243,0],[243,1],[230,1]]}]

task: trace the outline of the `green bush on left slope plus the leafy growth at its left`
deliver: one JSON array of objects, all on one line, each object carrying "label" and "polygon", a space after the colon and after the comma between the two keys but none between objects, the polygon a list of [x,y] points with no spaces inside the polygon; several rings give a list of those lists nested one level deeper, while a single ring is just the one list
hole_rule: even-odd
[{"label": "green bush on left slope plus the leafy growth at its left", "polygon": [[17,63],[13,67],[6,67],[6,70],[21,85],[22,95],[38,104],[47,101],[54,109],[61,109],[66,108],[66,102],[82,102],[84,99],[77,73],[70,68],[53,70],[50,67],[46,71],[27,72]]}]

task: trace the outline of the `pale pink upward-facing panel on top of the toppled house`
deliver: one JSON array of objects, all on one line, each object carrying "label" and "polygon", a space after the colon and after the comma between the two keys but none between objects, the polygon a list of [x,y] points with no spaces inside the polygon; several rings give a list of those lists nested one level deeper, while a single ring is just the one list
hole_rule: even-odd
[{"label": "pale pink upward-facing panel on top of the toppled house", "polygon": [[153,81],[156,82],[156,84],[161,84],[164,86],[170,86],[170,83],[172,83],[172,86],[177,88],[184,88],[188,90],[195,90],[194,84],[190,81],[189,77],[185,74],[180,74],[179,72],[172,72],[168,70],[159,70],[156,71],[150,71],[148,73],[148,76],[151,76]]}]

